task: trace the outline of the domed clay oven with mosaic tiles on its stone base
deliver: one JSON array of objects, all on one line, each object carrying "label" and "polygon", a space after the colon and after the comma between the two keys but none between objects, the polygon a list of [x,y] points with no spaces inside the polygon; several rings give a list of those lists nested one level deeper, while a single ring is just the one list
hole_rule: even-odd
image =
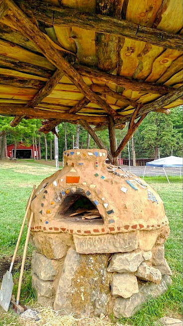
[{"label": "domed clay oven with mosaic tiles on its stone base", "polygon": [[163,201],[144,180],[106,164],[103,149],[63,156],[29,211],[37,300],[60,313],[131,316],[171,283]]}]

